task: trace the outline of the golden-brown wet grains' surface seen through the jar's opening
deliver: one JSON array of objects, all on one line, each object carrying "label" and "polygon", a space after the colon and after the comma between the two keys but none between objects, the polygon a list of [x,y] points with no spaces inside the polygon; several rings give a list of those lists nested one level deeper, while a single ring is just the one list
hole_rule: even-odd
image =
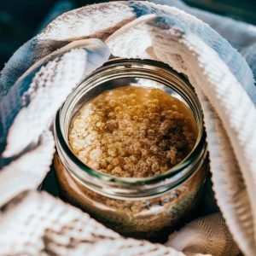
[{"label": "golden-brown wet grains' surface seen through the jar's opening", "polygon": [[108,90],[75,114],[69,143],[90,168],[117,177],[151,177],[194,148],[195,119],[185,104],[159,89]]}]

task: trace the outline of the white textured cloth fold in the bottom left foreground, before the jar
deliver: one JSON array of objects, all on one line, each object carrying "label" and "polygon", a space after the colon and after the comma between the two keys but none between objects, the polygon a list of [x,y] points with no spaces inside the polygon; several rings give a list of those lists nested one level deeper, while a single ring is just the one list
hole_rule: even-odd
[{"label": "white textured cloth fold in the bottom left foreground, before the jar", "polygon": [[184,256],[171,247],[125,239],[46,193],[30,192],[11,201],[0,225],[0,255]]}]

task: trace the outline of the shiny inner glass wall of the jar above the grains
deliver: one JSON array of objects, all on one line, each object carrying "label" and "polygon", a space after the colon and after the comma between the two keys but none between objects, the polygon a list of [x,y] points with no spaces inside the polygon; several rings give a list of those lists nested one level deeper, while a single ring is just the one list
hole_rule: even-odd
[{"label": "shiny inner glass wall of the jar above the grains", "polygon": [[[161,75],[160,69],[158,70],[156,68],[154,73],[148,73],[147,70],[134,70],[135,68],[136,67],[124,67],[124,69],[117,70],[115,73],[110,71],[106,78],[99,75],[94,76],[94,74],[92,74],[79,85],[77,90],[73,92],[72,96],[69,96],[67,102],[65,102],[61,109],[62,113],[66,113],[61,115],[62,134],[64,135],[66,142],[68,141],[67,135],[73,116],[77,113],[79,108],[81,108],[86,102],[90,102],[90,100],[102,94],[102,92],[123,86],[156,88],[177,98],[193,113],[198,130],[200,131],[198,137],[201,136],[202,119],[201,114],[198,113],[198,109],[196,109],[199,102],[197,102],[195,98],[190,97],[191,95],[195,97],[195,92],[191,85],[190,91],[186,88],[187,86],[184,88],[181,86],[184,82],[180,79],[184,79],[184,77],[180,77],[178,74],[176,74],[177,77],[173,76],[172,78],[165,77],[165,75],[158,77],[158,72],[159,75]],[[115,75],[118,76],[118,78],[115,78]]]}]

